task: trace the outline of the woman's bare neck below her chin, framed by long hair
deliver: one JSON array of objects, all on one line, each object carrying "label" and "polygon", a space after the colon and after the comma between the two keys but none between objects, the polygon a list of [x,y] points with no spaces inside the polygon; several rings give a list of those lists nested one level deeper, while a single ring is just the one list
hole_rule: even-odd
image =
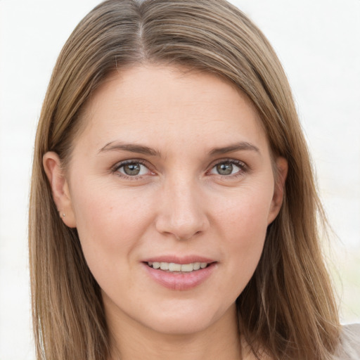
[{"label": "woman's bare neck below her chin, framed by long hair", "polygon": [[109,316],[110,360],[241,360],[235,304],[211,326],[196,333],[159,333],[129,318]]}]

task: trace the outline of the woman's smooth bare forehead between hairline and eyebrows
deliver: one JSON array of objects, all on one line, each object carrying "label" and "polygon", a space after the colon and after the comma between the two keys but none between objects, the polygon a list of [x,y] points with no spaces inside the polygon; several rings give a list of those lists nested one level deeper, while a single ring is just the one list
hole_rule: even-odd
[{"label": "woman's smooth bare forehead between hairline and eyebrows", "polygon": [[98,146],[118,137],[156,141],[158,146],[174,139],[205,146],[214,141],[267,142],[254,106],[236,86],[206,72],[172,66],[114,72],[86,104],[83,117],[84,136]]}]

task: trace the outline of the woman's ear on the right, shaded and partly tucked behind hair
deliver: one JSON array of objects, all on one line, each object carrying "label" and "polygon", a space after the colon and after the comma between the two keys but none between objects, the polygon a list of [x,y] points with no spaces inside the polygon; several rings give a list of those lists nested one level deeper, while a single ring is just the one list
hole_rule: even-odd
[{"label": "woman's ear on the right, shaded and partly tucked behind hair", "polygon": [[285,180],[286,180],[286,176],[288,176],[288,160],[279,156],[278,158],[276,158],[275,167],[276,167],[276,176],[275,176],[274,195],[271,200],[268,224],[271,224],[271,222],[273,222],[276,219],[278,213],[280,212],[281,205],[283,205]]}]

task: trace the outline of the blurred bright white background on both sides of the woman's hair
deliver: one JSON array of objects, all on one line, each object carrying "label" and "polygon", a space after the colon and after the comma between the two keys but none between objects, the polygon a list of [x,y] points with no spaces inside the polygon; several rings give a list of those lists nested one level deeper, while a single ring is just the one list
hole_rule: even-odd
[{"label": "blurred bright white background on both sides of the woman's hair", "polygon": [[[0,0],[0,360],[34,360],[27,262],[34,133],[51,70],[95,0]],[[342,323],[360,322],[360,1],[231,1],[288,74],[331,226]]]}]

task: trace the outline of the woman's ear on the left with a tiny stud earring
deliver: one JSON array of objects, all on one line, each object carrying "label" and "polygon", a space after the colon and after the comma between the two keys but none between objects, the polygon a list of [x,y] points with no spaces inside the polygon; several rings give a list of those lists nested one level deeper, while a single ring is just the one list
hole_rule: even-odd
[{"label": "woman's ear on the left with a tiny stud earring", "polygon": [[65,178],[58,154],[53,151],[47,152],[42,158],[42,163],[49,179],[53,200],[58,208],[59,216],[63,219],[65,225],[75,228],[75,213],[72,210],[68,181]]}]

